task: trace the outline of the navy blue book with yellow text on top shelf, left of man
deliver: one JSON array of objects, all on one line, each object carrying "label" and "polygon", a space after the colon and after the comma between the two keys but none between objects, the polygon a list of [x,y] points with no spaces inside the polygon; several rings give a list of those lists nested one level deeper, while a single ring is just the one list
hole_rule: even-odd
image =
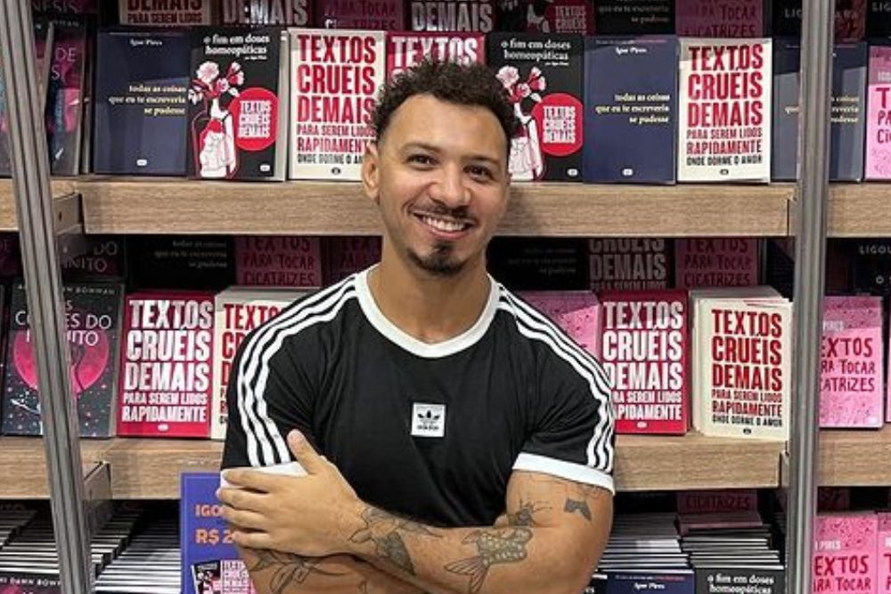
[{"label": "navy blue book with yellow text on top shelf, left of man", "polygon": [[189,37],[178,29],[98,36],[95,173],[185,175]]}]

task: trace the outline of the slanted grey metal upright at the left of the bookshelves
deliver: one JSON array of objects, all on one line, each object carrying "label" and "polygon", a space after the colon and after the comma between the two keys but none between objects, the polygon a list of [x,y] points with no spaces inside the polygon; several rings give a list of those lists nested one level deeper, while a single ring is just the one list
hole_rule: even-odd
[{"label": "slanted grey metal upright at the left of the bookshelves", "polygon": [[61,591],[86,594],[92,590],[93,577],[84,515],[83,466],[70,398],[65,312],[30,11],[29,0],[0,2],[0,57],[10,117],[12,182],[28,289],[30,334],[37,359]]}]

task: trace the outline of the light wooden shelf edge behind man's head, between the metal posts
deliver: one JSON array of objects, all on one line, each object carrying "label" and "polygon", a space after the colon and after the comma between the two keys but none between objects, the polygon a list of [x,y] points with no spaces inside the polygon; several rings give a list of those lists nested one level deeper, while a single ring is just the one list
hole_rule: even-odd
[{"label": "light wooden shelf edge behind man's head, between the metal posts", "polygon": [[[356,183],[77,182],[92,234],[380,235]],[[501,235],[786,235],[794,186],[516,184]]]}]

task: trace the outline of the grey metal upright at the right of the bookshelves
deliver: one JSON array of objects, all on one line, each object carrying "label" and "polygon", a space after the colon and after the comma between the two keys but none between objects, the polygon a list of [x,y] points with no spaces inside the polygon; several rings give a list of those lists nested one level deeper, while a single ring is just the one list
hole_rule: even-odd
[{"label": "grey metal upright at the right of the bookshelves", "polygon": [[832,0],[805,0],[795,249],[795,378],[789,492],[787,592],[811,594],[819,454],[820,344],[829,199]]}]

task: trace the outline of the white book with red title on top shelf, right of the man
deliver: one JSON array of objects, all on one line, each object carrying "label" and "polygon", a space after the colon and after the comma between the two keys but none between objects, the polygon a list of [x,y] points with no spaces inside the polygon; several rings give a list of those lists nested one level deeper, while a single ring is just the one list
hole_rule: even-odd
[{"label": "white book with red title on top shelf, right of the man", "polygon": [[679,182],[771,176],[770,38],[681,39]]}]

